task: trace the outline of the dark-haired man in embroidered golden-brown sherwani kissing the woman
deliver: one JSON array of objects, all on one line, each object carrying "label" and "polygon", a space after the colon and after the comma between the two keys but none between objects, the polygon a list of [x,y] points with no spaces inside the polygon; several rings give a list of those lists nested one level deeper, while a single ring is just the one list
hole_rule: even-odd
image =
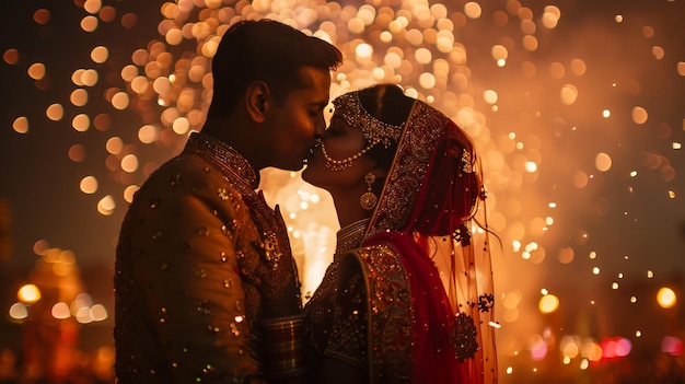
[{"label": "dark-haired man in embroidered golden-brown sherwani kissing the woman", "polygon": [[142,185],[115,263],[116,375],[128,383],[297,382],[300,287],[259,170],[300,170],[340,51],[275,21],[227,31],[201,132]]}]

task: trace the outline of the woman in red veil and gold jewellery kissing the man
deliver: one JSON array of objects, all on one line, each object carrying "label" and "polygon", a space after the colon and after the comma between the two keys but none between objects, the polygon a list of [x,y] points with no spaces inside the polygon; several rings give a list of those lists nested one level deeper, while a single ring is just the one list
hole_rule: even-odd
[{"label": "woman in red veil and gold jewellery kissing the man", "polygon": [[[496,383],[485,191],[450,118],[378,84],[334,101],[304,181],[340,231],[307,302],[315,383]],[[473,230],[477,233],[472,233]]]}]

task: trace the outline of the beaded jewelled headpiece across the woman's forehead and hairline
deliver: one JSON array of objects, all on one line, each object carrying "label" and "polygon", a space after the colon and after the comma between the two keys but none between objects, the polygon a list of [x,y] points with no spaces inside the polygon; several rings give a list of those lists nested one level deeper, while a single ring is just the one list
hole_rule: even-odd
[{"label": "beaded jewelled headpiece across the woman's forehead and hairline", "polygon": [[396,142],[402,135],[402,126],[393,126],[371,116],[359,101],[359,92],[346,93],[333,101],[340,110],[345,123],[350,127],[359,127],[364,138],[371,143],[382,143],[385,148]]}]

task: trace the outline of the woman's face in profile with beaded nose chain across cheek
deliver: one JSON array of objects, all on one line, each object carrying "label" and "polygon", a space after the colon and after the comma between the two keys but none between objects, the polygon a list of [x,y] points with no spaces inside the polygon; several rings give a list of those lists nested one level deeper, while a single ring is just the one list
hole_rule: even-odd
[{"label": "woman's face in profile with beaded nose chain across cheek", "polygon": [[[359,186],[365,189],[364,175],[375,163],[369,155],[360,154],[365,147],[361,129],[349,126],[341,116],[334,114],[321,144],[307,161],[302,178],[327,190]],[[353,160],[349,161],[351,158]],[[336,162],[348,166],[336,171]]]}]

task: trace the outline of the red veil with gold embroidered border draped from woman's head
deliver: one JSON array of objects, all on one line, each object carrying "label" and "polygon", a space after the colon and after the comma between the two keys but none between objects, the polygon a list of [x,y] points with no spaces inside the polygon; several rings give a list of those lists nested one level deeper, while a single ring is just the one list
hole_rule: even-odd
[{"label": "red veil with gold embroidered border draped from woman's head", "polygon": [[473,143],[417,101],[364,246],[387,244],[409,280],[414,383],[496,383],[494,288],[485,191]]}]

